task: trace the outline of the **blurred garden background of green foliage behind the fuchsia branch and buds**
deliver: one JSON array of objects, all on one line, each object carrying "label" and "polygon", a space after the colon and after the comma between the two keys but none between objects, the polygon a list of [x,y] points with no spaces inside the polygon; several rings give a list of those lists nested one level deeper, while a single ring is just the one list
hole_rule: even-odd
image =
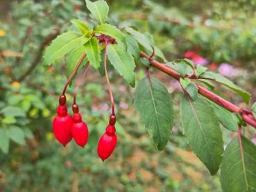
[{"label": "blurred garden background of green foliage behind the fuchsia branch and buds", "polygon": [[[218,71],[252,94],[250,105],[256,101],[255,0],[108,4],[108,22],[130,22],[152,33],[168,60],[189,58]],[[71,141],[63,148],[54,139],[51,121],[67,80],[65,59],[42,67],[42,55],[77,17],[90,21],[82,0],[0,1],[0,191],[221,191],[219,174],[210,176],[183,135],[178,83],[158,71],[153,76],[169,89],[176,114],[173,134],[161,152],[135,112],[134,89],[112,71],[118,144],[110,159],[102,163],[96,153],[108,124],[110,99],[105,78],[94,69],[77,98],[89,143],[80,148]],[[136,71],[137,80],[144,77],[143,67]],[[75,85],[67,91],[69,106]],[[217,89],[246,107],[229,89]],[[223,129],[225,145],[234,136]],[[246,129],[246,136],[256,143],[253,128]]]}]

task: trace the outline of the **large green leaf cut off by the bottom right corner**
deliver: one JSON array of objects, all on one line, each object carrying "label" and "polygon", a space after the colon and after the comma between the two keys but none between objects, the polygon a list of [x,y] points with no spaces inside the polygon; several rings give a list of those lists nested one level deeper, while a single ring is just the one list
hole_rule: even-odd
[{"label": "large green leaf cut off by the bottom right corner", "polygon": [[[241,150],[242,148],[242,150]],[[232,139],[221,164],[223,191],[256,191],[256,146],[246,137]]]}]

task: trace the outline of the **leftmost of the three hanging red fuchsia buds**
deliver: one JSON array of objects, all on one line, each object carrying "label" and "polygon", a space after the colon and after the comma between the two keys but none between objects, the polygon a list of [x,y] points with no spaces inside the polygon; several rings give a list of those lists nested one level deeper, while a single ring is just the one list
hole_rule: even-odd
[{"label": "leftmost of the three hanging red fuchsia buds", "polygon": [[60,96],[59,103],[60,104],[57,107],[57,116],[53,119],[53,134],[63,146],[66,146],[72,139],[72,118],[67,114],[65,95]]}]

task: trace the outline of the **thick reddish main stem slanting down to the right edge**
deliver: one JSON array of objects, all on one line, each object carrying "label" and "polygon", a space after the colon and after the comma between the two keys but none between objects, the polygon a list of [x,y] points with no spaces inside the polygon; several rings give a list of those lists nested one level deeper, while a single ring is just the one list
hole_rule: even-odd
[{"label": "thick reddish main stem slanting down to the right edge", "polygon": [[[150,58],[149,55],[146,55],[146,53],[143,53],[143,52],[140,52],[140,56],[142,58],[147,58],[147,59]],[[155,67],[156,69],[159,69],[160,71],[162,71],[164,73],[167,73],[167,75],[169,75],[173,78],[176,78],[176,80],[180,80],[180,74],[177,71],[167,67],[166,64],[157,62],[156,60],[153,60],[153,59],[149,60],[149,62],[151,63],[152,67]],[[224,107],[226,110],[229,110],[230,112],[241,114],[241,117],[244,122],[246,122],[249,125],[256,128],[256,119],[252,114],[250,114],[248,112],[244,112],[243,108],[238,107],[237,105],[234,105],[233,103],[230,103],[229,101],[221,98],[220,96],[217,96],[216,94],[212,93],[212,91],[209,91],[208,89],[205,89],[204,87],[201,87],[200,85],[197,85],[197,87],[198,87],[199,94],[205,96],[206,98],[210,99],[211,101],[220,105],[221,107]]]}]

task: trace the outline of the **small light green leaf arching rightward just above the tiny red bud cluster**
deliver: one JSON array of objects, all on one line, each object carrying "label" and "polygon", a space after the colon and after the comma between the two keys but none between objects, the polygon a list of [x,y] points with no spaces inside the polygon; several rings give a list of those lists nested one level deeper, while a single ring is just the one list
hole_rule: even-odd
[{"label": "small light green leaf arching rightward just above the tiny red bud cluster", "polygon": [[121,33],[121,30],[110,24],[101,24],[94,29],[94,33],[108,35],[117,40],[118,44],[126,48],[126,36]]}]

